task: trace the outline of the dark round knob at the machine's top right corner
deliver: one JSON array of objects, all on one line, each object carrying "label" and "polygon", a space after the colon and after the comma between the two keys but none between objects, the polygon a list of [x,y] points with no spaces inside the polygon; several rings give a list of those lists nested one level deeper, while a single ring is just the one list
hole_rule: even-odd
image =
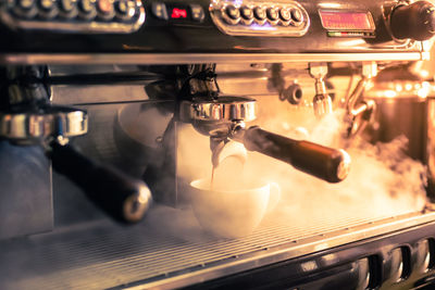
[{"label": "dark round knob at the machine's top right corner", "polygon": [[397,39],[427,40],[435,35],[435,5],[427,1],[399,5],[391,13],[390,27]]}]

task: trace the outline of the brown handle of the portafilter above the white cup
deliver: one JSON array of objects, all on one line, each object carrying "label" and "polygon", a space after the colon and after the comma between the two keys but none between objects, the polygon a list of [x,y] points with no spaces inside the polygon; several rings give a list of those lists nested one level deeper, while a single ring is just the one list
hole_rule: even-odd
[{"label": "brown handle of the portafilter above the white cup", "polygon": [[301,172],[328,182],[339,182],[349,173],[350,156],[344,150],[294,140],[258,126],[243,130],[240,141],[248,150],[284,161]]}]

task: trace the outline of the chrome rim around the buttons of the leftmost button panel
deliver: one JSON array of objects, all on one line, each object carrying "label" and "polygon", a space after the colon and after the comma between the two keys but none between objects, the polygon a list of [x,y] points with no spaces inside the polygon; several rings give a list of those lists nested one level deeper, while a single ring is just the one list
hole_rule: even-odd
[{"label": "chrome rim around the buttons of the leftmost button panel", "polygon": [[[12,29],[50,30],[51,33],[87,33],[87,34],[129,34],[137,31],[145,23],[146,12],[140,0],[136,0],[137,20],[134,23],[103,22],[62,22],[62,21],[26,21],[13,17],[8,9],[0,10],[0,20]],[[54,27],[54,28],[53,28]]]}]

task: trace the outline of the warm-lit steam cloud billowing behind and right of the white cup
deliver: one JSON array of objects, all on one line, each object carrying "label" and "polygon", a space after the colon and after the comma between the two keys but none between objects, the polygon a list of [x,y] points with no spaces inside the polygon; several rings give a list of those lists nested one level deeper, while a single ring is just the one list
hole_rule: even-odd
[{"label": "warm-lit steam cloud billowing behind and right of the white cup", "polygon": [[[271,109],[261,106],[261,110],[268,112]],[[249,152],[243,171],[217,167],[216,174],[221,180],[234,182],[234,175],[238,172],[240,178],[248,182],[262,179],[281,186],[282,200],[275,211],[269,214],[269,219],[284,218],[303,227],[315,226],[315,220],[322,219],[327,219],[331,225],[347,219],[376,220],[424,209],[425,168],[420,162],[405,155],[408,141],[405,137],[376,144],[361,137],[348,140],[341,138],[345,130],[344,112],[337,111],[322,121],[315,119],[311,110],[296,112],[293,117],[299,119],[295,121],[289,119],[291,114],[285,110],[275,111],[284,112],[282,115],[275,114],[273,118],[263,114],[264,117],[256,124],[290,138],[344,148],[350,154],[352,164],[349,176],[339,184],[327,184],[257,152]],[[303,128],[298,125],[303,125]],[[188,181],[210,178],[209,139],[189,126],[179,136],[178,162],[183,178]]]}]

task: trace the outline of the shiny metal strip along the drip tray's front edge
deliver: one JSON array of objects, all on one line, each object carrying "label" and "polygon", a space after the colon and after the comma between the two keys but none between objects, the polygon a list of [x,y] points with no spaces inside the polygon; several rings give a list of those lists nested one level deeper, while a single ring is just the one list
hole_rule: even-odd
[{"label": "shiny metal strip along the drip tray's front edge", "polygon": [[184,275],[167,277],[162,280],[146,282],[134,287],[123,288],[124,290],[139,289],[175,289],[188,285],[199,283],[207,280],[224,277],[243,270],[259,268],[272,263],[283,262],[293,257],[310,254],[313,252],[331,249],[350,242],[373,238],[393,231],[406,230],[410,227],[433,223],[435,212],[426,214],[413,213],[405,216],[393,216],[386,219],[370,222],[365,225],[345,228],[337,231],[321,234],[297,241],[291,241],[290,247],[279,247],[278,249],[268,249],[263,253],[252,253],[247,259],[235,260],[233,263],[206,267]]}]

